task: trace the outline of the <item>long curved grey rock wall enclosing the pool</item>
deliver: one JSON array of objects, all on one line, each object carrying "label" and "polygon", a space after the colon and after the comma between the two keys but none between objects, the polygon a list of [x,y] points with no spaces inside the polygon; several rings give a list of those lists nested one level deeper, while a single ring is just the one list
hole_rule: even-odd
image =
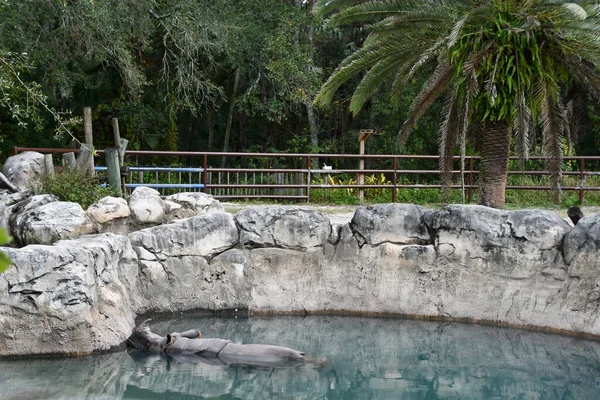
[{"label": "long curved grey rock wall enclosing the pool", "polygon": [[7,249],[0,355],[106,350],[136,314],[390,313],[600,335],[600,215],[572,228],[546,211],[310,208],[210,213],[127,236]]}]

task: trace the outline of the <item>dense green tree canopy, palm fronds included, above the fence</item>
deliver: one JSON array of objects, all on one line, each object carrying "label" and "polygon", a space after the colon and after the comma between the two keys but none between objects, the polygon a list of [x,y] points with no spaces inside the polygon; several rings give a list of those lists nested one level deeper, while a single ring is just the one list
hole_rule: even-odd
[{"label": "dense green tree canopy, palm fronds included, above the fence", "polygon": [[0,157],[71,146],[86,106],[98,147],[113,117],[132,149],[355,153],[377,127],[368,152],[441,137],[448,169],[506,122],[519,154],[597,154],[597,3],[0,0]]}]

